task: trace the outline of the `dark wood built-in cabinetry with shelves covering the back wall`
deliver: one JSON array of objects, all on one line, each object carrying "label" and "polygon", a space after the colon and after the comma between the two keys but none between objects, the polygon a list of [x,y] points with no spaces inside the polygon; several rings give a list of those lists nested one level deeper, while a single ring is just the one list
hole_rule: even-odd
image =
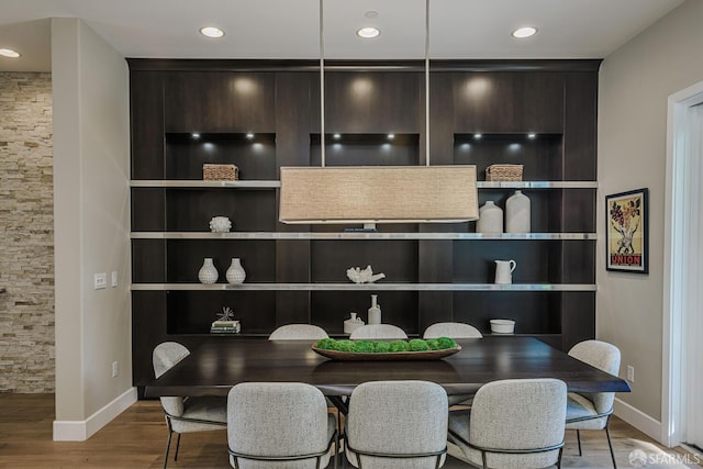
[{"label": "dark wood built-in cabinetry with shelves covering the back wall", "polygon": [[[410,335],[437,321],[490,333],[490,319],[510,317],[517,334],[562,348],[592,337],[598,65],[433,68],[431,164],[476,165],[479,180],[491,164],[524,165],[524,182],[481,182],[479,201],[504,208],[523,190],[533,233],[487,236],[473,222],[380,225],[377,234],[283,225],[279,168],[320,165],[315,65],[130,60],[134,384],[152,378],[152,349],[165,339],[241,340],[291,322],[341,335],[350,311],[366,319],[371,293],[379,294],[383,322]],[[328,166],[424,164],[422,64],[392,70],[332,64],[325,103]],[[203,182],[208,163],[237,165],[241,180]],[[231,233],[210,233],[215,215],[231,219]],[[198,282],[204,257],[214,258],[215,284]],[[238,287],[225,283],[233,257],[247,272]],[[494,259],[517,261],[513,286],[492,284]],[[387,278],[352,284],[346,269],[369,264]],[[225,305],[242,321],[242,334],[209,334]]]}]

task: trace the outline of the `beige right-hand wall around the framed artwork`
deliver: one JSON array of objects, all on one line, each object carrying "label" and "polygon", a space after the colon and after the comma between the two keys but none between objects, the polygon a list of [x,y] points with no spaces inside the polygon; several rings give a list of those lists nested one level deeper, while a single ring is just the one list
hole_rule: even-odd
[{"label": "beige right-hand wall around the framed artwork", "polygon": [[[605,58],[599,90],[596,336],[635,367],[624,416],[661,420],[662,291],[667,98],[703,80],[703,1],[688,0]],[[604,196],[649,188],[649,275],[605,270]],[[628,407],[628,409],[627,409]],[[616,410],[616,413],[617,410]]]}]

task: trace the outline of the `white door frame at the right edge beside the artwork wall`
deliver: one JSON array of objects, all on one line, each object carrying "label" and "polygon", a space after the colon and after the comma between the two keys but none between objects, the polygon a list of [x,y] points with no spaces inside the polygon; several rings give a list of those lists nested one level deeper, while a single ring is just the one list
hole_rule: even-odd
[{"label": "white door frame at the right edge beside the artwork wall", "polygon": [[[661,390],[661,443],[672,447],[681,444],[685,432],[687,344],[684,282],[687,263],[683,252],[689,243],[685,224],[700,226],[700,210],[689,211],[682,216],[681,201],[691,193],[691,188],[681,181],[688,167],[685,138],[689,129],[689,109],[703,103],[703,81],[670,94],[667,116],[667,176],[665,200],[663,244],[663,324],[662,324],[662,390]],[[695,202],[696,204],[699,201]],[[701,209],[701,208],[699,208]]]}]

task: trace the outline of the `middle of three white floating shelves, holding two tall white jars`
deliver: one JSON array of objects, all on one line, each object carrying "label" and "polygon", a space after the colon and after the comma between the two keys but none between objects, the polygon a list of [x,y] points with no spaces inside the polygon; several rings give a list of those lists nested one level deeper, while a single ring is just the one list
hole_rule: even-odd
[{"label": "middle of three white floating shelves, holding two tall white jars", "polygon": [[133,232],[132,239],[596,239],[595,233]]}]

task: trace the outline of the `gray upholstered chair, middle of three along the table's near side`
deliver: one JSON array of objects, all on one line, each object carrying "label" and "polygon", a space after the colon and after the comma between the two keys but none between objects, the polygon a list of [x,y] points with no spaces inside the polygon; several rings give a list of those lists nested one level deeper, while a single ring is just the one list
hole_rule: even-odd
[{"label": "gray upholstered chair, middle of three along the table's near side", "polygon": [[345,435],[354,467],[439,468],[447,450],[447,393],[426,381],[359,384],[349,400]]}]

